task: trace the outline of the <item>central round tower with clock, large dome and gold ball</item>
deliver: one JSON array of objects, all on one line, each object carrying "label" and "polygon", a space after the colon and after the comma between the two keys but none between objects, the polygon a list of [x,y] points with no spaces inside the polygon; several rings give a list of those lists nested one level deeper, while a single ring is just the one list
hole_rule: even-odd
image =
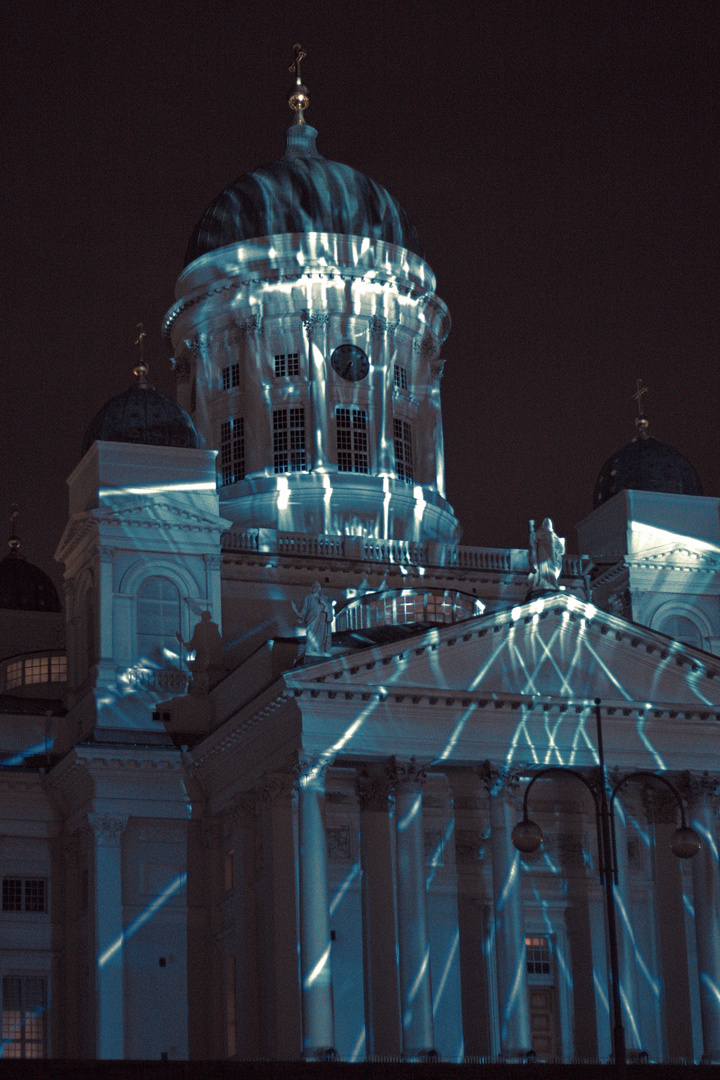
[{"label": "central round tower with clock, large dome and gold ball", "polygon": [[318,153],[297,79],[284,157],[230,185],[191,238],[165,322],[178,400],[219,450],[239,531],[454,542],[448,310],[398,203]]}]

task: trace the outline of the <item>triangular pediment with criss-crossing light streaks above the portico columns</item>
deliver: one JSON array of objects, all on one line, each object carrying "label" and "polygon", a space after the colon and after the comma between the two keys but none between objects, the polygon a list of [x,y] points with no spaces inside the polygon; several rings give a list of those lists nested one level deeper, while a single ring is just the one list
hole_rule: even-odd
[{"label": "triangular pediment with criss-crossing light streaks above the portico columns", "polygon": [[402,643],[296,670],[291,684],[710,707],[720,659],[572,595],[438,627]]}]

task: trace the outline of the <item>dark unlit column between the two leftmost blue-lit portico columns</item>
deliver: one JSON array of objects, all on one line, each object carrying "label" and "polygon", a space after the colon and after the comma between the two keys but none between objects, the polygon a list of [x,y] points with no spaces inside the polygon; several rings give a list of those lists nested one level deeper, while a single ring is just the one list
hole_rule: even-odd
[{"label": "dark unlit column between the two leftmost blue-lit portico columns", "polygon": [[397,972],[393,820],[386,777],[357,778],[363,873],[363,968],[368,1054],[402,1051]]}]

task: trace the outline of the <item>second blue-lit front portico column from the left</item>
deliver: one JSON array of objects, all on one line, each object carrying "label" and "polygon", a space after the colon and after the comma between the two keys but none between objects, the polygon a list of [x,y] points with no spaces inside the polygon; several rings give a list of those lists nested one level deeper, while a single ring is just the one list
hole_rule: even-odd
[{"label": "second blue-lit front portico column from the left", "polygon": [[422,828],[424,770],[393,760],[403,1057],[436,1056]]}]

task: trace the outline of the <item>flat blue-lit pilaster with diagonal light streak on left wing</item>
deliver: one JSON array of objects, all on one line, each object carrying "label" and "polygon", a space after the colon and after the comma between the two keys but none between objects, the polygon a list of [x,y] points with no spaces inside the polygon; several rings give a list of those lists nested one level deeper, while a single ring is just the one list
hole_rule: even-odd
[{"label": "flat blue-lit pilaster with diagonal light streak on left wing", "polygon": [[95,837],[95,1048],[98,1058],[124,1057],[122,836],[127,818],[87,815]]}]

